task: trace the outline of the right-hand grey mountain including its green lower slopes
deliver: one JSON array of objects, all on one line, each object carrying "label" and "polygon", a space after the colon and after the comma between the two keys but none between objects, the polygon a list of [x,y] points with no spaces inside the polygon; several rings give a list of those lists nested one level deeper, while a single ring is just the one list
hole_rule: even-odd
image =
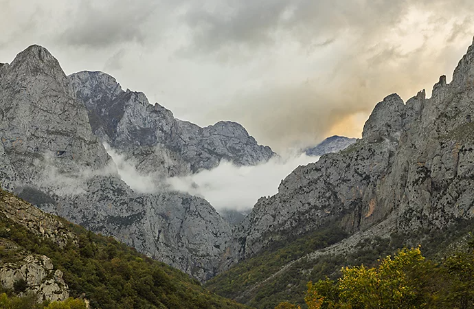
[{"label": "right-hand grey mountain including its green lower slopes", "polygon": [[260,198],[234,228],[229,270],[206,286],[257,308],[302,304],[306,282],[342,266],[418,244],[439,260],[462,246],[474,222],[473,80],[474,45],[431,98],[376,104],[362,139]]}]

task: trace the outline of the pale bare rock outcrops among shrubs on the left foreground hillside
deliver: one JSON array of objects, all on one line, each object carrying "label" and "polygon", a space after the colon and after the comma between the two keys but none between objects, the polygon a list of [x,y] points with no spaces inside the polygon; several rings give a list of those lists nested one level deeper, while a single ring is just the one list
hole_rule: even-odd
[{"label": "pale bare rock outcrops among shrubs on the left foreground hillside", "polygon": [[[35,236],[47,239],[64,248],[69,240],[77,241],[62,222],[43,211],[28,205],[18,198],[0,192],[0,216],[3,220],[16,222]],[[3,223],[3,222],[2,222]],[[21,247],[8,237],[10,227],[0,231],[0,284],[5,289],[18,289],[19,282],[25,282],[21,293],[38,294],[38,300],[58,301],[69,297],[69,287],[63,279],[63,272],[54,267],[51,259],[35,254]]]}]

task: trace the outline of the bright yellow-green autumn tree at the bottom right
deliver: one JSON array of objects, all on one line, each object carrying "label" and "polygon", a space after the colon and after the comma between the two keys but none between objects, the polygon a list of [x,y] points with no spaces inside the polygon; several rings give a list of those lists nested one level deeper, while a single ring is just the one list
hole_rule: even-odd
[{"label": "bright yellow-green autumn tree at the bottom right", "polygon": [[[416,308],[427,304],[430,295],[425,293],[425,286],[430,281],[420,282],[415,277],[432,270],[433,263],[425,260],[420,248],[402,249],[394,257],[380,261],[377,267],[344,267],[336,282],[309,282],[304,301],[309,309]],[[281,309],[297,308],[280,305]]]}]

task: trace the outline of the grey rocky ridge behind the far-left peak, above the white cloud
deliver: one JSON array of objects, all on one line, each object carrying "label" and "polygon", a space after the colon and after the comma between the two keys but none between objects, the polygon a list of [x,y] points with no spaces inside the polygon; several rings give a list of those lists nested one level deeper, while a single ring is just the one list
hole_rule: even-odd
[{"label": "grey rocky ridge behind the far-left peak, above the white cloud", "polygon": [[95,135],[139,172],[164,178],[215,168],[223,159],[255,165],[275,155],[240,124],[218,122],[201,128],[175,119],[158,103],[150,105],[144,93],[123,91],[106,73],[82,71],[68,79],[87,108]]}]

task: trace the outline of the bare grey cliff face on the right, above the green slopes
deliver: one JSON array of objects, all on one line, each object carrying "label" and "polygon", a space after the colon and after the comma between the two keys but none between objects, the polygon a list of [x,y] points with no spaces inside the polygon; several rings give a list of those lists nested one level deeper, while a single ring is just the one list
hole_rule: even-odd
[{"label": "bare grey cliff face on the right, above the green slopes", "polygon": [[[474,47],[431,98],[377,104],[362,139],[293,171],[236,228],[228,264],[335,222],[350,233],[440,228],[474,216]],[[226,265],[226,267],[228,266]]]}]

